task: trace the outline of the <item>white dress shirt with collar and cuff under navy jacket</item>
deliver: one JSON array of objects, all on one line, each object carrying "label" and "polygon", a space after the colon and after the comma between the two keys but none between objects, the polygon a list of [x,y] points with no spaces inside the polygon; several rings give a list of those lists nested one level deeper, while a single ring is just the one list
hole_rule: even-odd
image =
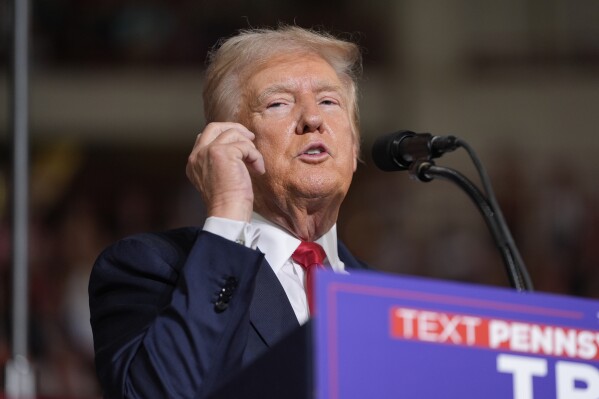
[{"label": "white dress shirt with collar and cuff under navy jacket", "polygon": [[[268,264],[281,282],[299,323],[304,324],[310,318],[304,287],[304,269],[291,259],[301,242],[298,238],[255,212],[250,223],[209,217],[204,223],[204,230],[264,253]],[[335,272],[343,273],[345,265],[337,253],[337,225],[333,225],[316,242],[326,253],[324,265]]]}]

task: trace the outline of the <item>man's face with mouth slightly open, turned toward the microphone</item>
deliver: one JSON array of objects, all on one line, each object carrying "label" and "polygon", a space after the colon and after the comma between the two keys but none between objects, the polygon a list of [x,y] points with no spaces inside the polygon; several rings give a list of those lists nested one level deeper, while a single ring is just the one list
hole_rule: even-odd
[{"label": "man's face with mouth slightly open, turned toward the microphone", "polygon": [[[345,197],[357,165],[348,93],[316,55],[273,58],[244,85],[241,122],[256,135],[266,174],[256,204]],[[260,212],[260,209],[257,209]]]}]

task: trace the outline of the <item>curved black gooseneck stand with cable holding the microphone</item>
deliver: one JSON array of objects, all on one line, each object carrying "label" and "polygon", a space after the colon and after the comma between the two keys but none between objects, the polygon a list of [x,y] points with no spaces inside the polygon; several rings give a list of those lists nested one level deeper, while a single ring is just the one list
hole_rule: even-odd
[{"label": "curved black gooseneck stand with cable holding the microphone", "polygon": [[474,151],[472,151],[467,144],[459,139],[457,140],[457,144],[465,147],[473,158],[489,199],[485,197],[476,185],[458,171],[451,168],[436,166],[433,161],[428,159],[421,159],[413,162],[409,169],[410,176],[422,182],[430,182],[434,178],[442,178],[455,183],[464,190],[481,212],[487,227],[493,236],[497,249],[503,258],[511,286],[517,291],[532,291],[532,282],[513,241],[512,235],[509,232],[507,223],[503,218],[503,214],[499,209],[499,205],[495,199],[484,167],[476,157]]}]

